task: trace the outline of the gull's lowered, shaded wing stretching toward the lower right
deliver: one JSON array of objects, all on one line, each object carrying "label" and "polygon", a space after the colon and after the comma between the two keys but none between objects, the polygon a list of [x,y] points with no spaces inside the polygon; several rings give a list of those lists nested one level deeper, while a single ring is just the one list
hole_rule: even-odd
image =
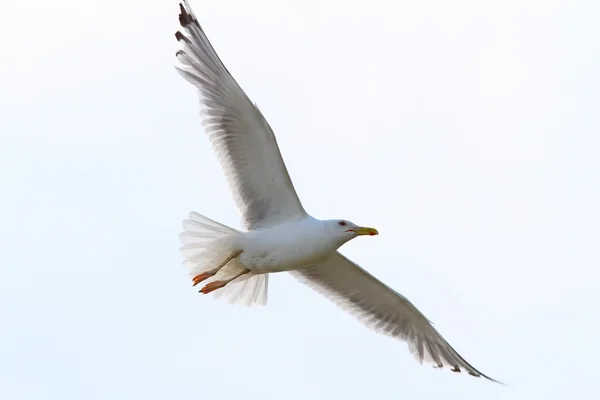
[{"label": "gull's lowered, shaded wing stretching toward the lower right", "polygon": [[340,253],[291,273],[378,333],[406,341],[417,361],[495,381],[462,358],[408,299]]}]

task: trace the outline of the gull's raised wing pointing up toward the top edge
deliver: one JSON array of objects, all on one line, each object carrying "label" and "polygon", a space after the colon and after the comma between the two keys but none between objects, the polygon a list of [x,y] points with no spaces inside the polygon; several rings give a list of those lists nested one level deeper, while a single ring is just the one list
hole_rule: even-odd
[{"label": "gull's raised wing pointing up toward the top edge", "polygon": [[271,127],[227,71],[189,4],[179,6],[183,29],[175,34],[181,45],[177,70],[201,95],[206,133],[246,227],[301,218],[306,213]]}]

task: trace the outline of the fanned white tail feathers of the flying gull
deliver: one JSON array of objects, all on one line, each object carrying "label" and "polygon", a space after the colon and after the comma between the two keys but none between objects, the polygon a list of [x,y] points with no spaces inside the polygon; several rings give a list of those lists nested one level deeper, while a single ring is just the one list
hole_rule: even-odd
[{"label": "fanned white tail feathers of the flying gull", "polygon": [[[225,260],[234,249],[235,236],[240,231],[191,212],[183,221],[183,232],[179,235],[180,247],[190,277],[209,271]],[[207,279],[210,283],[233,277],[244,270],[237,259],[231,260],[217,275]],[[223,289],[214,292],[215,298],[229,298],[231,304],[244,303],[247,306],[267,304],[269,277],[267,274],[248,273],[232,281]]]}]

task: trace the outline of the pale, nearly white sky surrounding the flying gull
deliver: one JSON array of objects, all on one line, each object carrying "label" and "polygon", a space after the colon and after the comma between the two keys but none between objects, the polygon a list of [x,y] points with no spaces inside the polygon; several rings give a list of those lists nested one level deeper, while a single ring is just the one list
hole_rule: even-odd
[{"label": "pale, nearly white sky surrounding the flying gull", "polygon": [[570,399],[598,393],[600,3],[191,5],[342,252],[500,386],[420,366],[286,274],[191,287],[240,227],[175,72],[177,1],[0,5],[0,398]]}]

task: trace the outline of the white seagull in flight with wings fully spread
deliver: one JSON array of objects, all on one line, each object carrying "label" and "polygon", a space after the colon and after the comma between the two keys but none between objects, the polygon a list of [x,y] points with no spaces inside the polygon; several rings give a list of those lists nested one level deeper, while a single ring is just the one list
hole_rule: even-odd
[{"label": "white seagull in flight with wings fully spread", "polygon": [[231,303],[261,306],[269,274],[286,271],[367,327],[408,343],[421,364],[497,382],[461,357],[406,297],[338,252],[377,230],[304,210],[265,117],[223,65],[187,1],[179,7],[176,68],[199,92],[205,132],[246,227],[189,214],[180,251],[192,284],[203,282],[200,293]]}]

